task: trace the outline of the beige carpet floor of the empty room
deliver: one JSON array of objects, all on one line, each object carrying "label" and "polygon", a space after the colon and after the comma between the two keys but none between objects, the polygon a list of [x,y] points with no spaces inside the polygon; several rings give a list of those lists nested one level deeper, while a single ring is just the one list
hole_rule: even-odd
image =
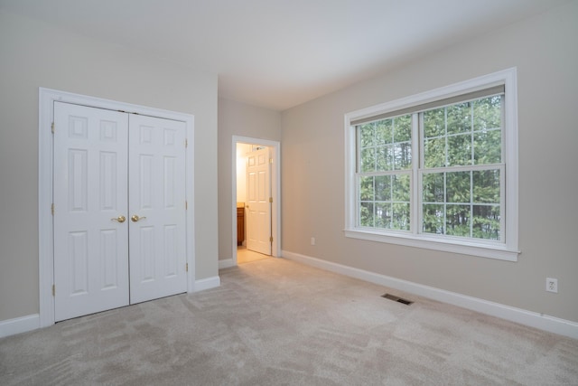
[{"label": "beige carpet floor of the empty room", "polygon": [[285,259],[220,278],[6,337],[0,384],[578,384],[578,341],[563,336]]}]

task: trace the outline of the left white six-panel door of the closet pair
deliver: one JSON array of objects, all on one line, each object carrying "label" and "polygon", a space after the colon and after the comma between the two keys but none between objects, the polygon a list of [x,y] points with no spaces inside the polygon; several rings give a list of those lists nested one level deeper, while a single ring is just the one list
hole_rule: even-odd
[{"label": "left white six-panel door of the closet pair", "polygon": [[54,127],[54,315],[60,321],[128,305],[128,116],[54,102]]}]

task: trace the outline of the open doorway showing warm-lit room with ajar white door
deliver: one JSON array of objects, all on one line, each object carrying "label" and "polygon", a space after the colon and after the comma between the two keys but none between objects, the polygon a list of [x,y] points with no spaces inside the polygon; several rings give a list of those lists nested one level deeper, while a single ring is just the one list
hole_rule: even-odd
[{"label": "open doorway showing warm-lit room with ajar white door", "polygon": [[232,263],[279,257],[280,144],[233,137],[232,145]]}]

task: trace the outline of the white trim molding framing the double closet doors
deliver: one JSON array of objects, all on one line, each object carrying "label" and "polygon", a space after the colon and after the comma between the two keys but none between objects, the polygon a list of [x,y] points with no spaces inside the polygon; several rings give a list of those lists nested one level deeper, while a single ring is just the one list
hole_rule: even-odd
[{"label": "white trim molding framing the double closet doors", "polygon": [[38,238],[39,238],[39,292],[40,313],[39,326],[46,327],[54,324],[54,297],[52,284],[54,281],[53,259],[53,224],[51,215],[52,204],[52,134],[51,124],[54,120],[54,102],[61,101],[93,108],[106,108],[137,113],[157,118],[182,121],[186,125],[188,141],[186,152],[186,262],[187,292],[197,290],[195,281],[195,251],[194,251],[194,117],[191,114],[148,108],[116,100],[100,99],[79,94],[73,94],[56,89],[39,88],[39,118],[38,118]]}]

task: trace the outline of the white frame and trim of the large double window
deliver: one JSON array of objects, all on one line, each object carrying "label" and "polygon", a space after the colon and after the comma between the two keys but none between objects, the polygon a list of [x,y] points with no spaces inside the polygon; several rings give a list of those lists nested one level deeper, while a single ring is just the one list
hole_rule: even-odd
[{"label": "white frame and trim of the large double window", "polygon": [[[361,228],[357,222],[357,185],[356,185],[356,127],[351,125],[351,121],[362,118],[370,118],[388,112],[412,108],[436,100],[448,99],[478,91],[490,87],[503,85],[506,92],[504,99],[504,122],[503,122],[503,152],[505,164],[505,184],[502,190],[502,202],[504,205],[503,217],[505,226],[503,228],[504,240],[474,240],[461,238],[441,237],[440,235],[424,234],[417,231],[415,226],[419,219],[419,183],[418,176],[412,176],[412,231],[400,232],[381,229]],[[414,124],[416,125],[416,123]],[[415,133],[417,127],[413,130]],[[412,147],[418,145],[418,138],[412,137]],[[510,68],[498,71],[489,75],[481,76],[472,80],[465,80],[450,86],[433,89],[414,96],[403,99],[396,99],[387,103],[352,111],[345,115],[345,236],[378,242],[386,242],[409,247],[434,249],[445,252],[459,253],[463,255],[478,256],[489,259],[502,259],[517,261],[518,250],[518,184],[517,184],[517,69]],[[418,162],[415,158],[414,162]]]}]

